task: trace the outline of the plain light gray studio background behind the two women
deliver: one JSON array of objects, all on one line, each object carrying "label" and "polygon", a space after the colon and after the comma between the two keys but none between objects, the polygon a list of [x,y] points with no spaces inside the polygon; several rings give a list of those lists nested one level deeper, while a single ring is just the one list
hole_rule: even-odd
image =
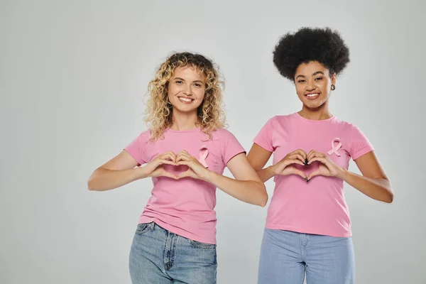
[{"label": "plain light gray studio background behind the two women", "polygon": [[[145,129],[155,68],[173,50],[217,62],[249,150],[271,116],[300,109],[271,52],[301,26],[349,45],[331,110],[364,131],[395,190],[383,204],[346,185],[357,283],[425,283],[424,13],[420,0],[0,1],[0,283],[130,283],[151,180],[89,192],[87,178]],[[266,208],[218,191],[217,218],[218,283],[256,283]]]}]

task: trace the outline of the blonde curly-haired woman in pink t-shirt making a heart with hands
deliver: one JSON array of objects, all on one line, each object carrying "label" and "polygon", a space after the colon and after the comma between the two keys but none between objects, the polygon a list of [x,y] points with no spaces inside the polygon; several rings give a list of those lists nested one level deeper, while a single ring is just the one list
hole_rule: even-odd
[{"label": "blonde curly-haired woman in pink t-shirt making a heart with hands", "polygon": [[97,191],[153,179],[131,245],[132,283],[216,283],[216,188],[266,205],[263,182],[224,129],[219,79],[204,56],[171,55],[148,86],[149,130],[89,178]]}]

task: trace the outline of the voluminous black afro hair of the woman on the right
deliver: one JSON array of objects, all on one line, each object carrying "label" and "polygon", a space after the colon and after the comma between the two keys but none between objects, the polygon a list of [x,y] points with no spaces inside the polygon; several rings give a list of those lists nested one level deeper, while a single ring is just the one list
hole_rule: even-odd
[{"label": "voluminous black afro hair of the woman on the right", "polygon": [[349,48],[338,31],[330,28],[300,28],[280,38],[273,51],[273,63],[281,75],[294,80],[302,63],[318,61],[330,75],[339,75],[349,63]]}]

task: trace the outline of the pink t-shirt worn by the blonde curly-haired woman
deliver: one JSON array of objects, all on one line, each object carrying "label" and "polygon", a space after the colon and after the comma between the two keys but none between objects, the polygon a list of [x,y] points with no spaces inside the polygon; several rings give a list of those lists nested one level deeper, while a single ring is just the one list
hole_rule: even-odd
[{"label": "pink t-shirt worn by the blonde curly-haired woman", "polygon": [[[222,174],[231,158],[244,153],[244,148],[226,129],[212,132],[212,139],[200,129],[173,131],[167,129],[164,138],[148,141],[150,131],[144,131],[126,150],[140,165],[149,163],[162,153],[182,150],[200,160],[209,170]],[[182,173],[186,165],[163,165],[170,173]],[[216,244],[216,187],[194,178],[152,178],[153,190],[139,223],[155,222],[164,229],[187,239]]]}]

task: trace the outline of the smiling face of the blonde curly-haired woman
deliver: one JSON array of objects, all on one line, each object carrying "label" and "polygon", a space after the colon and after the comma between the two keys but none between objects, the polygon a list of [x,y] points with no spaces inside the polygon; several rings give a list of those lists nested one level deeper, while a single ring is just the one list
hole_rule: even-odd
[{"label": "smiling face of the blonde curly-haired woman", "polygon": [[173,111],[195,113],[206,92],[206,76],[192,65],[177,67],[168,84],[168,99]]}]

